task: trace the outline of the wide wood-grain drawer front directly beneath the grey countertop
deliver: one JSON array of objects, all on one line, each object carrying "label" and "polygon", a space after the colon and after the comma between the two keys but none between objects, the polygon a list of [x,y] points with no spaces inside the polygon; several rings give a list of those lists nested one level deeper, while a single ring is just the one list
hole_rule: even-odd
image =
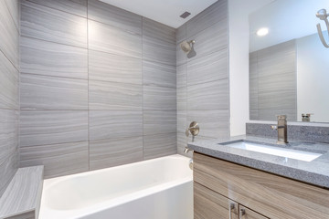
[{"label": "wide wood-grain drawer front directly beneath the grey countertop", "polygon": [[196,152],[194,180],[271,219],[329,218],[329,190]]}]

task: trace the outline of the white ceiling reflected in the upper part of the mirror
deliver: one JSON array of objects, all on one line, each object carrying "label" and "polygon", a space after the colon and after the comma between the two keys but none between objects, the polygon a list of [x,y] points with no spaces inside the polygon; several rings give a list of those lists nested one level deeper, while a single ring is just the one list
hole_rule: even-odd
[{"label": "white ceiling reflected in the upper part of the mirror", "polygon": [[[323,31],[326,30],[324,21],[315,16],[322,8],[329,10],[329,0],[276,0],[251,13],[249,51],[313,35],[317,33],[318,23],[323,27]],[[269,35],[257,36],[256,31],[260,27],[268,27]]]}]

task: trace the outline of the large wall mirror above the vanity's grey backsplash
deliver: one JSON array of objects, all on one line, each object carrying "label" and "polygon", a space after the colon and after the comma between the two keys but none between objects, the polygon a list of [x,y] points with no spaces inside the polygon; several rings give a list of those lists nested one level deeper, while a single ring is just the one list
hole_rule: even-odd
[{"label": "large wall mirror above the vanity's grey backsplash", "polygon": [[249,15],[250,120],[284,114],[290,121],[329,122],[329,48],[318,23],[329,38],[315,16],[322,8],[329,11],[328,0],[276,0]]}]

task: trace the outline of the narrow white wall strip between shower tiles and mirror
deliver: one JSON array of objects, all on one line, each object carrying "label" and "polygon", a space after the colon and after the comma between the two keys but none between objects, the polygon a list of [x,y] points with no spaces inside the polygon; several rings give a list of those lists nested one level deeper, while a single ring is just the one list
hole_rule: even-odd
[{"label": "narrow white wall strip between shower tiles and mirror", "polygon": [[249,121],[249,13],[272,1],[228,1],[231,136],[245,134]]}]

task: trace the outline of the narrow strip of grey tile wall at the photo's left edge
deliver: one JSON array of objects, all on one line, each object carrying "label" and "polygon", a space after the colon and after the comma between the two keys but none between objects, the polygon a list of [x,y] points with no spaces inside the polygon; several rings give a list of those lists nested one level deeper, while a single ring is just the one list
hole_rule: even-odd
[{"label": "narrow strip of grey tile wall at the photo's left edge", "polygon": [[0,1],[0,197],[19,163],[18,5],[18,0]]}]

